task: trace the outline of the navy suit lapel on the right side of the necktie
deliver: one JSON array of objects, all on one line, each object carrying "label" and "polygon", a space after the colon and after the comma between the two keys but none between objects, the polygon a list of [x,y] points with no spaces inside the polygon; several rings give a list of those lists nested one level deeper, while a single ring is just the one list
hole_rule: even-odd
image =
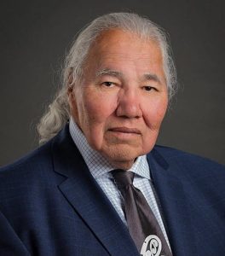
[{"label": "navy suit lapel on the right side of the necktie", "polygon": [[195,255],[191,202],[188,201],[182,181],[171,175],[171,168],[177,167],[169,166],[156,149],[147,155],[147,160],[172,252],[175,255]]}]

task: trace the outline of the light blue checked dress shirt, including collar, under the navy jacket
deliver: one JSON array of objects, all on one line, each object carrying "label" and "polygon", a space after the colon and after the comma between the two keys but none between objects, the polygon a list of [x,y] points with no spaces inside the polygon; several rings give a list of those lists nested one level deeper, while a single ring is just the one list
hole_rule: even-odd
[{"label": "light blue checked dress shirt, including collar, under the navy jacket", "polygon": [[[122,210],[122,196],[113,182],[113,175],[111,173],[115,168],[99,152],[89,146],[83,132],[80,131],[78,125],[72,119],[70,119],[69,131],[72,136],[72,140],[77,145],[86,165],[89,167],[89,172],[93,177],[95,177],[96,182],[107,195],[109,201],[111,201],[113,207],[118,212],[119,217],[122,219],[124,224],[127,225],[124,218],[124,212]],[[128,172],[135,172],[133,184],[137,189],[140,189],[142,194],[145,196],[148,205],[151,207],[156,219],[158,220],[159,226],[164,233],[165,240],[170,246],[159,211],[159,201],[156,200],[157,196],[150,177],[150,170],[147,164],[146,155],[139,156]]]}]

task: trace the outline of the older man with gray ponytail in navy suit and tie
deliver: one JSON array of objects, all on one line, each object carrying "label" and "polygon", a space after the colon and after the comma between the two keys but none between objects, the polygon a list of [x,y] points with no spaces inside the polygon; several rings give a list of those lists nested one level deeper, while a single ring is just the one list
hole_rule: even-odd
[{"label": "older man with gray ponytail in navy suit and tie", "polygon": [[175,78],[150,20],[103,15],[79,34],[43,146],[0,172],[0,255],[225,253],[224,167],[155,146]]}]

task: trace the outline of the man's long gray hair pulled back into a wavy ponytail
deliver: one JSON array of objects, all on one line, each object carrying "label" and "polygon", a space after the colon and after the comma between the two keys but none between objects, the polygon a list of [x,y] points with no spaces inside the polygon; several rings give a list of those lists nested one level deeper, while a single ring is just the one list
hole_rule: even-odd
[{"label": "man's long gray hair pulled back into a wavy ponytail", "polygon": [[86,26],[72,44],[66,56],[62,70],[63,86],[49,105],[38,124],[39,143],[47,142],[60,131],[70,118],[67,90],[72,84],[78,83],[84,75],[84,64],[89,49],[103,31],[118,28],[135,33],[143,39],[152,39],[159,44],[163,56],[164,74],[168,88],[169,99],[176,92],[176,68],[172,60],[170,44],[162,28],[147,18],[131,13],[112,13],[102,15]]}]

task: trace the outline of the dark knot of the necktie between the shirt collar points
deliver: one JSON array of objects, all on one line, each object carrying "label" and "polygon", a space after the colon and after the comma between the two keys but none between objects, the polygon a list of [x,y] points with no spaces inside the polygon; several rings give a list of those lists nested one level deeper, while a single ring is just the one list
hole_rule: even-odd
[{"label": "dark knot of the necktie between the shirt collar points", "polygon": [[134,172],[127,172],[125,170],[113,170],[113,177],[118,187],[123,188],[133,183]]}]

